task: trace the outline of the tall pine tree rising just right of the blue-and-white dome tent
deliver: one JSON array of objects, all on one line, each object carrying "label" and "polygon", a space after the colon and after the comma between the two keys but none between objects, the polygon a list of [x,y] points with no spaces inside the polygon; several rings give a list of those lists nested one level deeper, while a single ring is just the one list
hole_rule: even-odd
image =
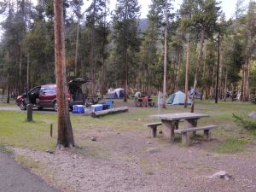
[{"label": "tall pine tree rising just right of the blue-and-white dome tent", "polygon": [[120,54],[119,63],[123,64],[125,89],[124,102],[127,102],[128,73],[131,59],[138,49],[138,24],[140,6],[137,0],[118,0],[113,14],[113,42],[116,53]]}]

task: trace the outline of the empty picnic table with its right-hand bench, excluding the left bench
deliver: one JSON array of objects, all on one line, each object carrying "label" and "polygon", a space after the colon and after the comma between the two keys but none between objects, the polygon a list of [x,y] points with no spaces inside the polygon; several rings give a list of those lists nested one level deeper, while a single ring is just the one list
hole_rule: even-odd
[{"label": "empty picnic table with its right-hand bench, excluding the left bench", "polygon": [[[202,127],[197,127],[198,119],[209,117],[209,114],[202,113],[166,113],[166,114],[156,114],[151,115],[154,119],[160,119],[163,125],[162,133],[163,136],[171,139],[174,142],[175,132],[183,134],[183,143],[189,143],[189,135],[187,134],[190,131],[205,131],[206,137],[210,138],[210,132],[212,128],[217,127],[216,125],[207,125]],[[184,120],[183,130],[175,131],[178,129],[178,123]]]}]

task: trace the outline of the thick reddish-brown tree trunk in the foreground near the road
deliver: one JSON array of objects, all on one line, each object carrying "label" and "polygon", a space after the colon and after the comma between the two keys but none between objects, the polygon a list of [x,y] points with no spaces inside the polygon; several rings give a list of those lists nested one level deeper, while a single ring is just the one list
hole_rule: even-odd
[{"label": "thick reddish-brown tree trunk in the foreground near the road", "polygon": [[55,73],[58,102],[58,139],[57,145],[61,147],[74,146],[73,129],[70,121],[67,102],[67,79],[65,60],[65,38],[63,0],[54,1],[55,12]]}]

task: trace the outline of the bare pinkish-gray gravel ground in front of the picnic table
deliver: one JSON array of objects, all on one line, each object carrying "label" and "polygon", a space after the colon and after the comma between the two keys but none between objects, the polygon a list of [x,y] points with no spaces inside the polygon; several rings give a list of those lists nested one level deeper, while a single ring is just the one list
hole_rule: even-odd
[{"label": "bare pinkish-gray gravel ground in front of the picnic table", "polygon": [[[184,148],[132,131],[104,134],[98,136],[98,143],[114,143],[114,147],[106,144],[109,149],[113,147],[106,157],[91,155],[85,148],[57,150],[54,154],[14,150],[40,161],[44,172],[38,174],[63,191],[256,191],[255,146],[252,153],[215,154],[202,148],[214,140]],[[227,172],[230,179],[209,177],[219,171]]]}]

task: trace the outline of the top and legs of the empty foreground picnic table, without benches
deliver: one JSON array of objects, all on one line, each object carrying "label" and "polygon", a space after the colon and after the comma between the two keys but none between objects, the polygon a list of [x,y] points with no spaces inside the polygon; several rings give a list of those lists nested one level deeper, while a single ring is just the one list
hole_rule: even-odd
[{"label": "top and legs of the empty foreground picnic table, without benches", "polygon": [[178,127],[178,122],[180,120],[184,120],[184,129],[186,129],[189,127],[196,127],[198,119],[209,116],[209,114],[202,113],[166,113],[151,115],[152,118],[161,120],[163,124],[163,136],[171,139],[172,142],[174,142],[175,128]]}]

